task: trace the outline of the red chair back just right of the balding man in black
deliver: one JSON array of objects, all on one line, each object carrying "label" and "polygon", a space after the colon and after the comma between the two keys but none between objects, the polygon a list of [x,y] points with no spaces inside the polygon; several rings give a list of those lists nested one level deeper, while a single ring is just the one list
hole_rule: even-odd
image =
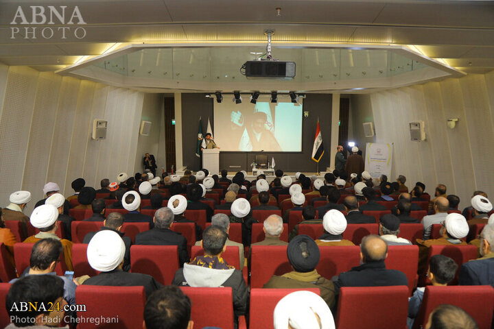
[{"label": "red chair back just right of the balding man in black", "polygon": [[388,246],[388,257],[384,263],[386,263],[386,269],[397,269],[405,273],[408,279],[408,289],[412,295],[418,279],[419,246],[390,245]]}]

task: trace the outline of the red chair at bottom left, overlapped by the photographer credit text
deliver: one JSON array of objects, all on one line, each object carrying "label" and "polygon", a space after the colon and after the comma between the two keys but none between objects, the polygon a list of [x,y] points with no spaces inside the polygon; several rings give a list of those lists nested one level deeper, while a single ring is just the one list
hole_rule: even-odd
[{"label": "red chair at bottom left, overlapped by the photographer credit text", "polygon": [[144,321],[145,293],[144,287],[107,287],[80,285],[75,289],[75,299],[78,305],[85,305],[85,312],[78,312],[78,317],[84,318],[114,318],[118,321],[113,324],[93,323],[78,324],[78,329],[122,329],[142,328]]}]

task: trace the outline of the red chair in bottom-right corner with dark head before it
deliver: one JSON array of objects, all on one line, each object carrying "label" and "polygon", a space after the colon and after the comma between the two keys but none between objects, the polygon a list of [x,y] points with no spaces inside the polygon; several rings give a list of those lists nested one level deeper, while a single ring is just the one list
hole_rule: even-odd
[{"label": "red chair in bottom-right corner with dark head before it", "polygon": [[413,328],[425,328],[429,314],[440,304],[462,308],[475,319],[480,329],[492,328],[494,288],[491,286],[425,287],[421,309]]}]

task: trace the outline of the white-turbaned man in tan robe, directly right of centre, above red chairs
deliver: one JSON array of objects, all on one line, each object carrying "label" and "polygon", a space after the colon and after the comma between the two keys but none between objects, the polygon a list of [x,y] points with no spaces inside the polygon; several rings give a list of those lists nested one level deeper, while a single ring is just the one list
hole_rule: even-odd
[{"label": "white-turbaned man in tan robe, directly right of centre, above red chairs", "polygon": [[322,219],[324,233],[316,240],[318,245],[354,245],[353,242],[343,239],[346,230],[346,219],[342,212],[331,209]]}]

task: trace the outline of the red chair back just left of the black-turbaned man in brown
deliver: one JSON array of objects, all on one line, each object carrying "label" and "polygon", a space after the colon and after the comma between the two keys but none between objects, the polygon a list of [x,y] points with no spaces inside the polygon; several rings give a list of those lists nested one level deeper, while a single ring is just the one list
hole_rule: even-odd
[{"label": "red chair back just left of the black-turbaned man in brown", "polygon": [[273,275],[292,271],[286,245],[252,245],[250,250],[250,288],[262,288]]}]

